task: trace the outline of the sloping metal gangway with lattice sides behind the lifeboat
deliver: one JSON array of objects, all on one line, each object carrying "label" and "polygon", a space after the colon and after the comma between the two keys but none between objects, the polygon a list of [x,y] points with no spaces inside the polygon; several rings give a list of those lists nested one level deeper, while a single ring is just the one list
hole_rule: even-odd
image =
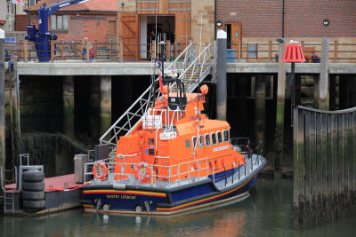
[{"label": "sloping metal gangway with lattice sides behind the lifeboat", "polygon": [[[198,56],[195,56],[195,49],[192,43],[182,53],[174,59],[174,61],[165,68],[165,72],[176,72],[183,83],[185,83],[185,92],[194,91],[198,84],[201,83],[206,75],[211,74],[213,67],[213,47],[211,44],[201,51]],[[158,78],[156,79],[158,80]],[[109,144],[109,146],[117,146],[117,140],[121,135],[128,135],[134,130],[135,125],[140,122],[143,115],[146,114],[150,107],[150,90],[147,88],[142,95],[134,101],[134,104],[129,107],[123,115],[114,122],[100,138],[101,144]],[[176,91],[176,86],[173,84],[170,88],[171,92]]]}]

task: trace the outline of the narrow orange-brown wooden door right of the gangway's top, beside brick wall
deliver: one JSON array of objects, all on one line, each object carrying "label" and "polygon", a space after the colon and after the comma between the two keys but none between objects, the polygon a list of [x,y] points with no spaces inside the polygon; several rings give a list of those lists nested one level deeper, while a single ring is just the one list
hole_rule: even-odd
[{"label": "narrow orange-brown wooden door right of the gangway's top, beside brick wall", "polygon": [[[241,22],[226,22],[225,30],[227,31],[228,43],[230,44],[230,49],[234,49],[236,51],[236,58],[240,59],[241,57],[241,49],[242,49],[242,24]],[[229,31],[229,32],[228,32]]]}]

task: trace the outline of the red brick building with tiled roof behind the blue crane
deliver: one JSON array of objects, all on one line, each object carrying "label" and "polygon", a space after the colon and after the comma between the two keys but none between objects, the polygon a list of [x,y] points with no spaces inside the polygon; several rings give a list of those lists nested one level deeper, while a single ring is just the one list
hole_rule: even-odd
[{"label": "red brick building with tiled roof behind the blue crane", "polygon": [[[36,11],[45,4],[60,0],[42,0],[29,7],[31,24],[37,24]],[[49,20],[49,30],[58,40],[71,42],[88,37],[90,41],[108,42],[117,38],[117,0],[91,0],[84,4],[73,4],[55,12]]]}]

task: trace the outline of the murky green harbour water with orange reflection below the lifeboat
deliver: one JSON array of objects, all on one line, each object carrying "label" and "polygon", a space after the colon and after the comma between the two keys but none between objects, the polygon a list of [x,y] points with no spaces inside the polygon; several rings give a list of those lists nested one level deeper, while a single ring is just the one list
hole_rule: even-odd
[{"label": "murky green harbour water with orange reflection below the lifeboat", "polygon": [[293,181],[260,178],[250,197],[217,209],[174,217],[88,214],[1,217],[0,236],[355,236],[356,217],[303,230],[293,228]]}]

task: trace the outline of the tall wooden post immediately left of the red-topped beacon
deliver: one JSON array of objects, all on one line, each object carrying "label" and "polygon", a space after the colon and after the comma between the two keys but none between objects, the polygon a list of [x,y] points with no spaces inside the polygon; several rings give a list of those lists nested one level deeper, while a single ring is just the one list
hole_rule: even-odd
[{"label": "tall wooden post immediately left of the red-topped beacon", "polygon": [[284,141],[284,107],[286,96],[286,63],[282,62],[285,43],[279,43],[279,73],[277,83],[276,131],[274,146],[277,155],[274,159],[274,178],[282,177],[283,141]]}]

